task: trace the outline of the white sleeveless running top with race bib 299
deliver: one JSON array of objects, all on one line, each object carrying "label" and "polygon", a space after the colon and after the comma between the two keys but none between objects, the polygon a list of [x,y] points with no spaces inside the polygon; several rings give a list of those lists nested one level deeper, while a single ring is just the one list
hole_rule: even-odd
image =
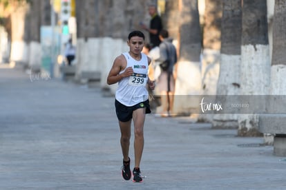
[{"label": "white sleeveless running top with race bib 299", "polygon": [[[137,61],[128,53],[124,52],[123,55],[127,61],[127,67],[133,68],[133,75],[124,77],[118,82],[118,87],[115,92],[117,101],[126,106],[133,106],[148,99],[148,90],[146,83],[148,81],[148,58],[145,54],[141,53],[141,60]],[[126,70],[122,70],[124,72]]]}]

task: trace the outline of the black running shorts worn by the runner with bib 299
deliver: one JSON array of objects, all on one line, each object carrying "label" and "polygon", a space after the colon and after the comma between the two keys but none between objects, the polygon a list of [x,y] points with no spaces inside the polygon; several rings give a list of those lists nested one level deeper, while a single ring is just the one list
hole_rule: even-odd
[{"label": "black running shorts worn by the runner with bib 299", "polygon": [[123,105],[122,103],[120,103],[119,101],[117,101],[115,99],[116,115],[117,115],[118,120],[120,120],[122,122],[127,122],[128,120],[131,120],[133,111],[135,109],[144,108],[144,107],[146,107],[145,113],[150,114],[151,109],[150,109],[150,105],[149,105],[149,100],[146,100],[142,103],[138,103],[138,104],[133,105],[133,106],[126,106],[126,105]]}]

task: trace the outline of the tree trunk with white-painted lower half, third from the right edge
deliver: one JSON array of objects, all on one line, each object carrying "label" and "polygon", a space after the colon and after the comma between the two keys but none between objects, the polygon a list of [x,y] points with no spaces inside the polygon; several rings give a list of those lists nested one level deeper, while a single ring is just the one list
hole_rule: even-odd
[{"label": "tree trunk with white-painted lower half, third from the right edge", "polygon": [[[224,0],[222,6],[222,34],[220,50],[220,74],[216,94],[227,96],[240,92],[240,44],[242,10],[240,0]],[[224,100],[222,100],[224,101]],[[236,114],[215,114],[213,128],[237,128]]]}]

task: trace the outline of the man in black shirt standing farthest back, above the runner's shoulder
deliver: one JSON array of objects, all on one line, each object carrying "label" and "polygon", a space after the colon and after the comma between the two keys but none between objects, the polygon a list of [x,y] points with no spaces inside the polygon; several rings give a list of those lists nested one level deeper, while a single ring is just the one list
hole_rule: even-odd
[{"label": "man in black shirt standing farthest back, above the runner's shoulder", "polygon": [[159,39],[159,34],[163,28],[162,19],[158,15],[157,6],[149,6],[149,14],[151,16],[150,28],[148,28],[144,23],[141,24],[142,28],[149,32],[151,48],[159,46],[161,41]]}]

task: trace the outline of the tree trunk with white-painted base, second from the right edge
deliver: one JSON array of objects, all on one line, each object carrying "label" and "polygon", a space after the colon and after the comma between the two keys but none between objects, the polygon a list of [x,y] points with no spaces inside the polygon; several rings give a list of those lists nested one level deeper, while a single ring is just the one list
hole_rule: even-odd
[{"label": "tree trunk with white-painted base, second from the right edge", "polygon": [[[243,1],[240,94],[245,101],[269,93],[270,57],[266,0]],[[257,96],[260,97],[260,96]],[[263,105],[263,101],[260,102]],[[249,107],[249,114],[238,118],[238,136],[261,136],[258,115],[263,107]],[[251,110],[254,109],[254,110]],[[264,109],[265,110],[265,109]]]}]

